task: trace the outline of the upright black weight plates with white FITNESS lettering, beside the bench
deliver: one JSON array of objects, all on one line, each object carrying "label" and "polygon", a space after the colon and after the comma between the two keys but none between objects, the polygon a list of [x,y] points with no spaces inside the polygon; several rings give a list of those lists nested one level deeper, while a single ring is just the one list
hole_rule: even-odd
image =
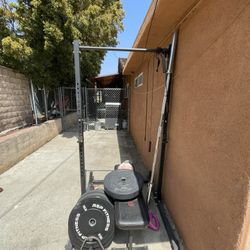
[{"label": "upright black weight plates with white FITNESS lettering, beside the bench", "polygon": [[[114,207],[101,190],[94,190],[81,196],[70,213],[68,221],[69,238],[75,249],[80,249],[85,237],[98,237],[107,248],[114,237]],[[100,249],[96,241],[87,242],[84,249]]]}]

